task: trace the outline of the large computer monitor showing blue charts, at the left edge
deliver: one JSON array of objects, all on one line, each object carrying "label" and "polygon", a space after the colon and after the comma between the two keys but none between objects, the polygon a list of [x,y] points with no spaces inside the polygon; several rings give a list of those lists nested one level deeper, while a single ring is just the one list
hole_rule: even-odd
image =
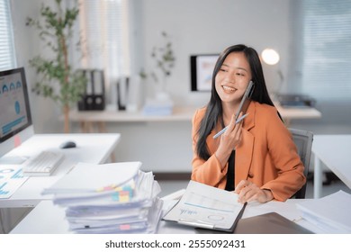
[{"label": "large computer monitor showing blue charts, at the left edge", "polygon": [[20,157],[3,157],[34,134],[24,68],[0,71],[0,164],[21,163]]}]

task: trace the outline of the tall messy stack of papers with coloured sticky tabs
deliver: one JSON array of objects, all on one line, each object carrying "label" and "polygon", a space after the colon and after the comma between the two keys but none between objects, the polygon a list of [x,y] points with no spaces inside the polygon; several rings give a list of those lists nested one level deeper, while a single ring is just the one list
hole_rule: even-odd
[{"label": "tall messy stack of papers with coloured sticky tabs", "polygon": [[154,233],[162,210],[160,188],[140,166],[78,163],[43,193],[54,194],[53,202],[66,208],[76,233]]}]

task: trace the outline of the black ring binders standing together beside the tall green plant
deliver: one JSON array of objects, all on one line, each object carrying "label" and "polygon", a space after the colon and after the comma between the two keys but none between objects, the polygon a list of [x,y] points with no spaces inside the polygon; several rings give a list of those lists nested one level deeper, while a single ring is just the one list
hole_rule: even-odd
[{"label": "black ring binders standing together beside the tall green plant", "polygon": [[85,94],[82,100],[78,102],[79,111],[95,111],[104,110],[105,97],[104,97],[104,78],[103,70],[97,69],[83,69],[82,70],[86,79]]}]

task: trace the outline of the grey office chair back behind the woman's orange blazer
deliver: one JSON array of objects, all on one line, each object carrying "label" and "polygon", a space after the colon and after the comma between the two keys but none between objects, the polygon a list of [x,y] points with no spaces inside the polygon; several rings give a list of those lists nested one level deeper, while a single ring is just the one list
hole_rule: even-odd
[{"label": "grey office chair back behind the woman's orange blazer", "polygon": [[[305,170],[303,174],[306,176],[309,173],[310,168],[310,160],[311,160],[311,148],[313,141],[313,133],[308,130],[296,130],[289,129],[293,135],[293,141],[297,147],[297,151],[299,153],[300,158],[302,159],[302,164],[305,166]],[[295,199],[304,199],[306,194],[306,184],[303,184],[302,188],[297,191],[292,198]]]}]

